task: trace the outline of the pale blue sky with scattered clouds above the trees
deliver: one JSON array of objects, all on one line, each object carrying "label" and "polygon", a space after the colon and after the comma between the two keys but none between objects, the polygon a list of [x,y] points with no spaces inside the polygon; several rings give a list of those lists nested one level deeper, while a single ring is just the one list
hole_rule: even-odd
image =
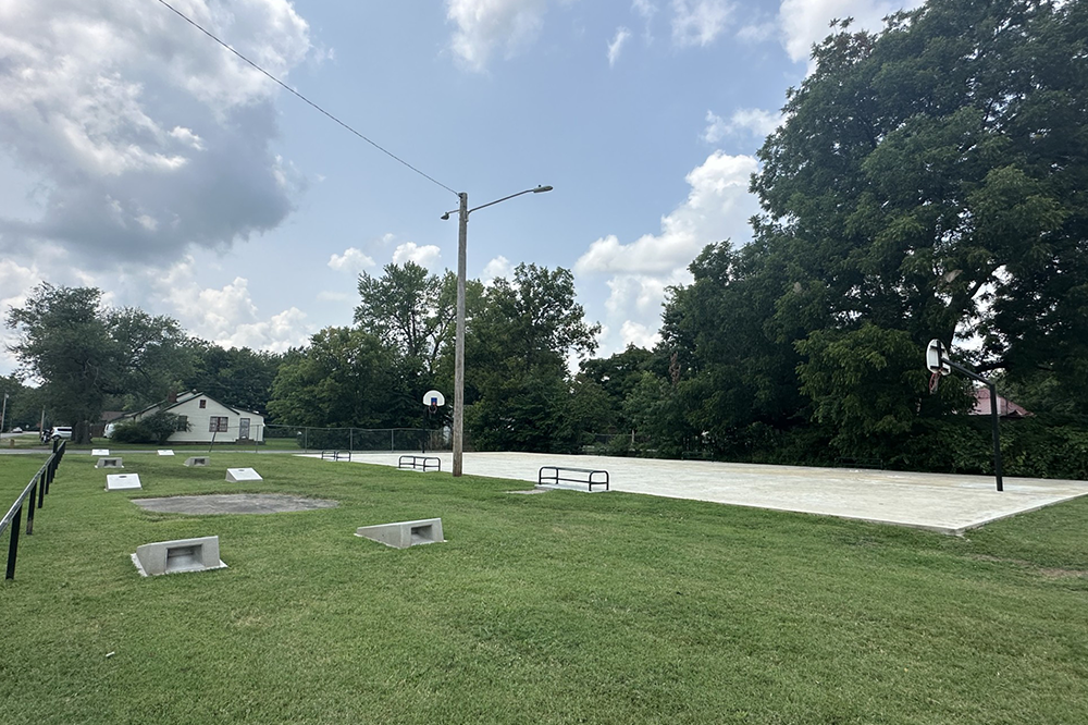
[{"label": "pale blue sky with scattered clouds above the trees", "polygon": [[[472,216],[469,275],[573,270],[599,355],[652,344],[698,250],[747,241],[755,150],[829,21],[903,5],[168,1],[470,206],[554,186]],[[350,323],[361,271],[455,268],[456,206],[158,0],[0,3],[4,311],[95,285],[283,351]]]}]

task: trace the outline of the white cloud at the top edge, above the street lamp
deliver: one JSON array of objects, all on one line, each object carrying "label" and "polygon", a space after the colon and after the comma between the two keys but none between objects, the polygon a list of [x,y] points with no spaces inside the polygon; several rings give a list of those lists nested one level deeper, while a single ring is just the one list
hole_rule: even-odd
[{"label": "white cloud at the top edge, above the street lamp", "polygon": [[454,54],[477,72],[496,47],[516,56],[536,39],[546,10],[547,0],[446,0],[446,20],[456,25]]}]

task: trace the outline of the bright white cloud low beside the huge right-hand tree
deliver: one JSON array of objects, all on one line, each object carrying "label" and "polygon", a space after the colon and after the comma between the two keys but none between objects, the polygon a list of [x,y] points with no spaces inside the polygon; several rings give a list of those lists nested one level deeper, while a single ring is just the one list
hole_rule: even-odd
[{"label": "bright white cloud low beside the huge right-hand tree", "polygon": [[660,234],[631,244],[621,244],[615,235],[602,237],[579,258],[576,272],[658,274],[687,266],[713,242],[746,239],[747,220],[758,211],[747,191],[756,168],[754,157],[715,151],[688,174],[688,199],[662,218]]}]

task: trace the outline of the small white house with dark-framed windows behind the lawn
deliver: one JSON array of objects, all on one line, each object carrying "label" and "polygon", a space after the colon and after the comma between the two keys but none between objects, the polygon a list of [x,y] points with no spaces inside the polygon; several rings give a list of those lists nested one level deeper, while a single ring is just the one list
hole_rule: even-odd
[{"label": "small white house with dark-framed windows behind the lawn", "polygon": [[[193,391],[156,403],[138,413],[129,413],[107,426],[107,435],[112,427],[127,420],[141,420],[156,413],[172,413],[180,418],[178,430],[168,443],[252,443],[264,440],[264,416],[251,410],[232,408],[219,401]],[[185,430],[186,423],[188,430]]]}]

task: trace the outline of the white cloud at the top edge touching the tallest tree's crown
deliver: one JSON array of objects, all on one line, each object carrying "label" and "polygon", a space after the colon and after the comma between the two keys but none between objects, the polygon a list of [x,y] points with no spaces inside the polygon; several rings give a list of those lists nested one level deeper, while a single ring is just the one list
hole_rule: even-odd
[{"label": "white cloud at the top edge touching the tallest tree's crown", "polygon": [[813,44],[821,41],[831,29],[832,20],[853,17],[852,29],[878,30],[883,19],[899,10],[917,8],[923,0],[782,0],[778,20],[782,45],[794,62],[808,60]]}]

